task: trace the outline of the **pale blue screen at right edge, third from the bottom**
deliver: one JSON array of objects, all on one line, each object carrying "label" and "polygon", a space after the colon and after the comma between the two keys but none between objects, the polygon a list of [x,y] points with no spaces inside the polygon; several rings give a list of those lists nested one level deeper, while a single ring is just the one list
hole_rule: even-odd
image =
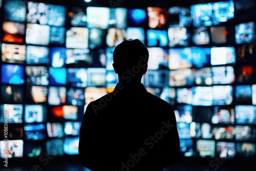
[{"label": "pale blue screen at right edge, third from the bottom", "polygon": [[236,115],[236,123],[256,124],[255,105],[236,105],[234,111]]}]

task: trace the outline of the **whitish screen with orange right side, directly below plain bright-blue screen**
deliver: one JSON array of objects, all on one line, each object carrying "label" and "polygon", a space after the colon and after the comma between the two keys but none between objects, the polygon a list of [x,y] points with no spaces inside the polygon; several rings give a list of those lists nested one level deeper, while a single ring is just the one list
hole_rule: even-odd
[{"label": "whitish screen with orange right side, directly below plain bright-blue screen", "polygon": [[66,87],[49,87],[48,104],[63,105],[66,103]]}]

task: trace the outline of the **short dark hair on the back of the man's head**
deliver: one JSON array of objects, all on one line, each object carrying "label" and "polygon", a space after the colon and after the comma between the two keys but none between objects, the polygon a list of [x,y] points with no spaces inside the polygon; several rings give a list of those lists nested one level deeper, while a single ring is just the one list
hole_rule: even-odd
[{"label": "short dark hair on the back of the man's head", "polygon": [[148,56],[148,50],[141,40],[126,39],[116,46],[113,61],[119,71],[125,72],[127,69],[132,69],[133,66],[138,65],[139,62],[147,64]]}]

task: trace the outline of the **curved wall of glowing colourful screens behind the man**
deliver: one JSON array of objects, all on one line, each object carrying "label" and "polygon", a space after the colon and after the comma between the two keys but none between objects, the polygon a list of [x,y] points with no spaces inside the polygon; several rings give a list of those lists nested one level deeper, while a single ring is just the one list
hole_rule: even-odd
[{"label": "curved wall of glowing colourful screens behind the man", "polygon": [[142,83],[173,105],[182,155],[255,159],[255,6],[243,0],[166,8],[3,1],[0,123],[7,113],[8,157],[77,155],[87,104],[118,82],[115,46],[139,38],[150,52]]}]

